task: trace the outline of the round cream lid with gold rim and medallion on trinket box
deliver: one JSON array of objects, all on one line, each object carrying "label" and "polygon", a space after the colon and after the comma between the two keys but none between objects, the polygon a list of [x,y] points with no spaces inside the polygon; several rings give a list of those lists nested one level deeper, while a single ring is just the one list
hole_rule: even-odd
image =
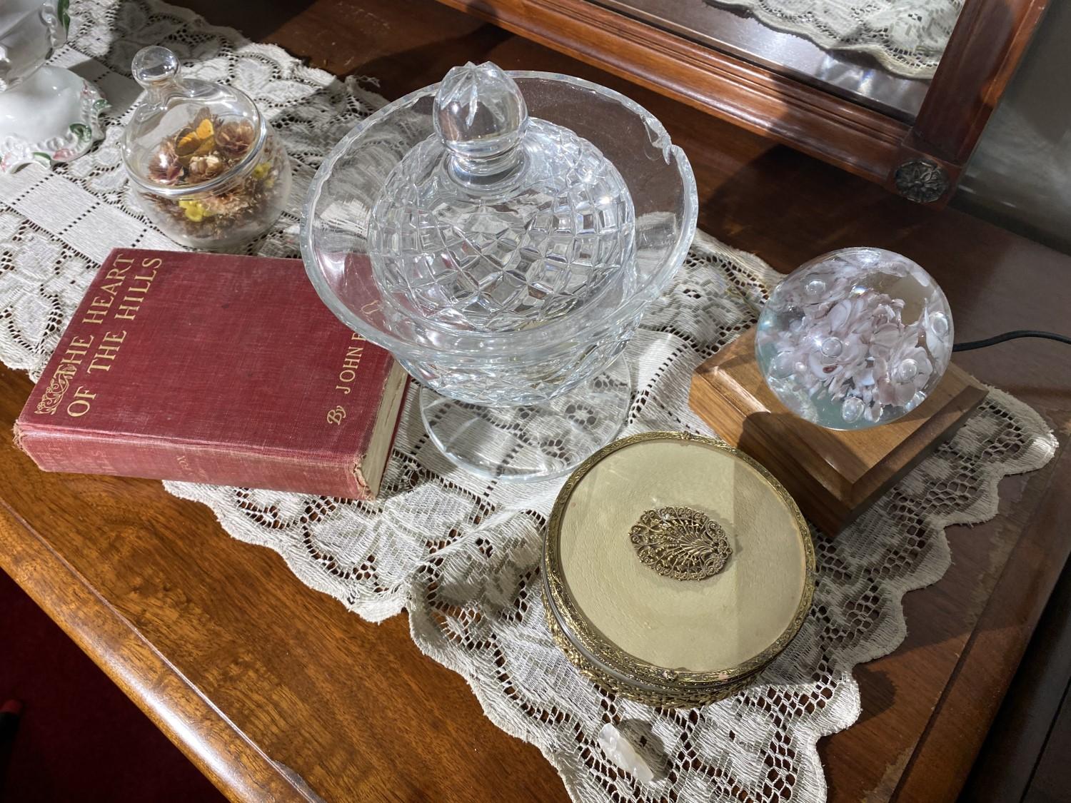
[{"label": "round cream lid with gold rim and medallion on trinket box", "polygon": [[645,433],[570,478],[544,554],[567,635],[621,675],[724,682],[799,630],[814,548],[769,472],[708,438]]}]

